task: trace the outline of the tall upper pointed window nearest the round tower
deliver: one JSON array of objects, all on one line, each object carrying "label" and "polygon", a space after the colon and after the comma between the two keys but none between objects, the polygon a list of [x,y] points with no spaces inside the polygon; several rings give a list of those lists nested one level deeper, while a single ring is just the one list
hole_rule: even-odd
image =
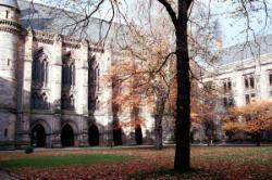
[{"label": "tall upper pointed window nearest the round tower", "polygon": [[44,53],[44,49],[34,54],[32,76],[35,86],[48,83],[48,56]]}]

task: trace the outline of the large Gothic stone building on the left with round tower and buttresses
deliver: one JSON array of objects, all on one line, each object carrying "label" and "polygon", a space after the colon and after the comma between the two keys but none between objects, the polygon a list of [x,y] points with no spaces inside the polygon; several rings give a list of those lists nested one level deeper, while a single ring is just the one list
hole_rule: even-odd
[{"label": "large Gothic stone building on the left with round tower and buttresses", "polygon": [[112,85],[102,77],[124,56],[96,43],[109,25],[94,18],[85,37],[71,37],[63,12],[32,5],[0,0],[0,149],[151,143],[148,113],[140,129],[113,128]]}]

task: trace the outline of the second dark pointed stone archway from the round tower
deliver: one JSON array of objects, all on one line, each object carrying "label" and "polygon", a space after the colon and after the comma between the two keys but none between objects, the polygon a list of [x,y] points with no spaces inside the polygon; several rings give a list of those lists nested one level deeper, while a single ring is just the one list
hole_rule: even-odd
[{"label": "second dark pointed stone archway from the round tower", "polygon": [[77,125],[74,121],[66,121],[61,127],[61,144],[65,146],[74,146],[76,144],[76,136],[78,133]]}]

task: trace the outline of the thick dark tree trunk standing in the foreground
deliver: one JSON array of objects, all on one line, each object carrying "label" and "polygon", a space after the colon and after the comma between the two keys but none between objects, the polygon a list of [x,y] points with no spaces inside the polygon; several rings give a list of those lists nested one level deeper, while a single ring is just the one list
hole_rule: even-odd
[{"label": "thick dark tree trunk standing in the foreground", "polygon": [[188,3],[187,0],[178,0],[178,18],[176,25],[177,100],[175,170],[189,170],[190,168],[190,81],[187,41]]}]

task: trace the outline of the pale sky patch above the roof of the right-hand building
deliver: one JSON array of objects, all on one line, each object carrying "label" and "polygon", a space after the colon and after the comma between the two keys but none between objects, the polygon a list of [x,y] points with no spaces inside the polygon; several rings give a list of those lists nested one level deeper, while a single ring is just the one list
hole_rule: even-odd
[{"label": "pale sky patch above the roof of the right-hand building", "polygon": [[[213,0],[211,5],[213,7],[212,13],[217,14],[214,16],[220,22],[224,47],[233,46],[235,43],[245,41],[247,34],[244,33],[243,30],[245,30],[247,18],[245,18],[245,16],[240,14],[239,16],[233,15],[233,12],[237,13],[237,11],[235,11],[235,8],[237,7],[233,5],[230,0],[224,3],[220,3],[218,1],[220,0]],[[272,20],[271,17],[269,17],[268,20],[265,18],[267,15],[265,15],[265,11],[263,10],[262,1],[254,5],[255,7],[252,8],[257,9],[258,7],[260,7],[262,9],[258,12],[249,13],[250,27],[252,27],[254,33],[256,34],[256,36],[264,36],[264,35],[272,34]],[[272,1],[268,0],[267,5],[268,5],[268,11],[269,11],[268,14],[272,14],[271,12]],[[267,20],[267,24],[265,24],[265,20]],[[250,36],[249,39],[252,39],[251,30],[249,30],[249,36]]]}]

